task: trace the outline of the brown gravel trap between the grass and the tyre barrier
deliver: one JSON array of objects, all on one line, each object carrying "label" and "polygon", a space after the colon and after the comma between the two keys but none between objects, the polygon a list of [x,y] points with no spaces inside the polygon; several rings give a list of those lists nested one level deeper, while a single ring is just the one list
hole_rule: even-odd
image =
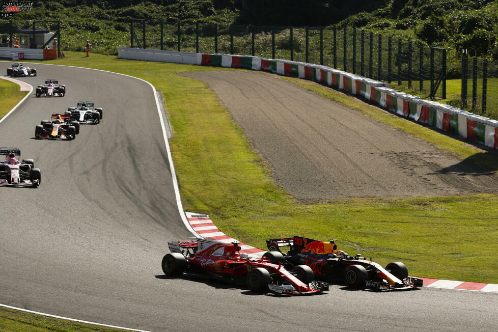
[{"label": "brown gravel trap between the grass and the tyre barrier", "polygon": [[181,74],[207,82],[272,165],[274,180],[300,201],[498,192],[491,172],[282,79]]}]

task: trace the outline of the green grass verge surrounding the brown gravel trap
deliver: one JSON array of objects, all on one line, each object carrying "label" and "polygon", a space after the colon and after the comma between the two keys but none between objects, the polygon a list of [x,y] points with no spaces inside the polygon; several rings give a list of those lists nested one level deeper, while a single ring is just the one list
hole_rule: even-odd
[{"label": "green grass verge surrounding the brown gravel trap", "polygon": [[[209,214],[222,231],[245,243],[264,248],[268,238],[294,234],[337,238],[339,247],[350,254],[363,253],[382,265],[403,261],[411,275],[498,283],[496,195],[345,198],[297,204],[271,180],[268,165],[207,85],[176,74],[231,69],[144,63],[100,54],[86,58],[77,52],[46,63],[128,74],[162,91],[174,131],[170,145],[185,210]],[[498,160],[492,153],[313,82],[289,80],[462,160],[496,170]]]}]

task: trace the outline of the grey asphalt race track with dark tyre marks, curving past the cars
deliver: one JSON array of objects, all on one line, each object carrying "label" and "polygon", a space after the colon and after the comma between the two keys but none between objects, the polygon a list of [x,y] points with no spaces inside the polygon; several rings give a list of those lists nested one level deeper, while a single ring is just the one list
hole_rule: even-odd
[{"label": "grey asphalt race track with dark tyre marks, curving past the cars", "polygon": [[[11,62],[0,62],[5,75]],[[35,66],[63,98],[28,98],[0,123],[42,173],[39,188],[0,187],[0,303],[145,330],[497,330],[498,294],[423,288],[375,293],[332,286],[276,297],[196,279],[166,279],[167,241],[186,239],[152,89],[94,70]],[[34,128],[80,99],[103,108],[74,141]],[[406,262],[408,263],[408,262]],[[407,264],[409,268],[409,263]]]}]

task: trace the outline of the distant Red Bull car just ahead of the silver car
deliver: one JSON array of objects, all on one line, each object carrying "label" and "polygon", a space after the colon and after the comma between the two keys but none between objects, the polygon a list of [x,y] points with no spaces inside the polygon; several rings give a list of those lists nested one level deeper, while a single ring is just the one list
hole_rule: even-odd
[{"label": "distant Red Bull car just ahead of the silver car", "polygon": [[78,133],[79,123],[64,114],[52,114],[50,121],[42,121],[35,127],[36,139],[74,140]]}]

